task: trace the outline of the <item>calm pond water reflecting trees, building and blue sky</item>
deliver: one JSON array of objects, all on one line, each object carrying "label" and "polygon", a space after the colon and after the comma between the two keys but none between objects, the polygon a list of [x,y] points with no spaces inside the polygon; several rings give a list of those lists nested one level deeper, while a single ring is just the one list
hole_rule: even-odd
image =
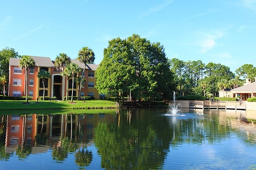
[{"label": "calm pond water reflecting trees, building and blue sky", "polygon": [[256,127],[231,118],[245,111],[196,112],[3,115],[0,170],[256,168]]}]

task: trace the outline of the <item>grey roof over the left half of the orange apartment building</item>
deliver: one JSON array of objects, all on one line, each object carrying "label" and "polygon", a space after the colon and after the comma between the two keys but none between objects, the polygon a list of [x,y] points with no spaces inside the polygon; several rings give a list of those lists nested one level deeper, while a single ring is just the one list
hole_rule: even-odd
[{"label": "grey roof over the left half of the orange apartment building", "polygon": [[[35,60],[35,65],[39,67],[54,67],[52,60],[50,57],[37,57],[37,56],[30,56],[32,59]],[[10,58],[10,65],[11,66],[19,66],[20,59],[18,58]]]}]

